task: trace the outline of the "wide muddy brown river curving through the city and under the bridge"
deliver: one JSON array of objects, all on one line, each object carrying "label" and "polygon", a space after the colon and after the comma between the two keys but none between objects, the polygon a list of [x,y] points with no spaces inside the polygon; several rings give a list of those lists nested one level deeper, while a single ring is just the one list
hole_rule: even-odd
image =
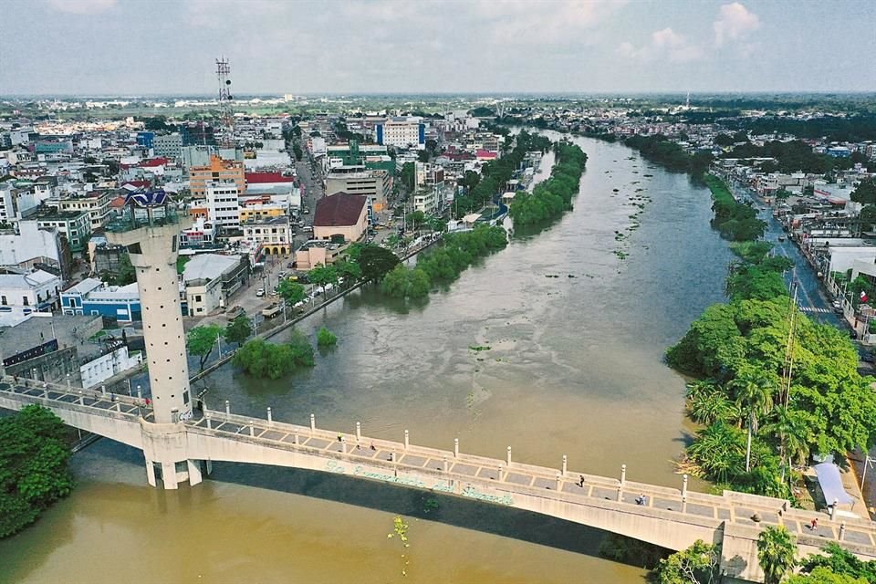
[{"label": "wide muddy brown river curving through the city and under the bridge", "polygon": [[[556,139],[559,134],[548,132]],[[232,369],[207,405],[569,470],[679,485],[692,431],[683,378],[662,362],[723,299],[731,255],[709,227],[708,191],[630,149],[575,139],[589,155],[575,209],[469,268],[422,305],[373,289],[299,325],[338,347],[281,381]],[[546,169],[549,170],[549,169]],[[617,191],[615,191],[615,189]],[[631,226],[638,225],[636,228]],[[556,277],[554,277],[556,276]],[[475,351],[474,346],[489,350]],[[200,391],[199,382],[196,391]],[[331,474],[215,464],[164,492],[141,454],[100,441],[77,454],[78,487],[0,542],[0,582],[640,582],[598,556],[603,534],[474,501]],[[411,547],[388,538],[405,516]],[[406,576],[402,576],[402,569]]]}]

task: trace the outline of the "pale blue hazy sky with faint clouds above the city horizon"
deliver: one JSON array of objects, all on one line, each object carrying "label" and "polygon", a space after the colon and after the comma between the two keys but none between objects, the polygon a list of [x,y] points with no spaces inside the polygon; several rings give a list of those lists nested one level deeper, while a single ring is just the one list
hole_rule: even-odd
[{"label": "pale blue hazy sky with faint clouds above the city horizon", "polygon": [[0,0],[0,94],[876,90],[873,0]]}]

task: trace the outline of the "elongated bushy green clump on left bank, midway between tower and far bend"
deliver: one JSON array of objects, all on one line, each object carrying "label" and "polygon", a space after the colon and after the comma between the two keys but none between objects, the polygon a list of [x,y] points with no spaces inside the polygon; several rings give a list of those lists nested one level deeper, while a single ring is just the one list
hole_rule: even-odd
[{"label": "elongated bushy green clump on left bank, midway between tower and far bend", "polygon": [[479,257],[508,245],[505,229],[478,225],[472,231],[444,235],[437,247],[423,251],[414,267],[395,266],[381,280],[381,292],[389,297],[422,298],[433,284],[452,282]]}]

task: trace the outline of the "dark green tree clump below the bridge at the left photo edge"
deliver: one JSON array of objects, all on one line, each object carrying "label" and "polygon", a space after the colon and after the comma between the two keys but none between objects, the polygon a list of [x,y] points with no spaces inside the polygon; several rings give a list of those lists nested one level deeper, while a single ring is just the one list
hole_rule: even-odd
[{"label": "dark green tree clump below the bridge at the left photo edge", "polygon": [[73,489],[65,434],[64,423],[38,405],[0,418],[0,537],[21,531]]}]

